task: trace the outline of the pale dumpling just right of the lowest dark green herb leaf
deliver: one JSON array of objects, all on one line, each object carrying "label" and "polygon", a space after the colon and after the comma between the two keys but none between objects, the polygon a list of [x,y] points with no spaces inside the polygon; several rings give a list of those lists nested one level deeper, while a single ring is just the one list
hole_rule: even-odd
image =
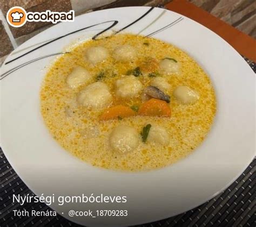
[{"label": "pale dumpling just right of the lowest dark green herb leaf", "polygon": [[149,135],[147,136],[147,141],[160,145],[167,145],[170,141],[169,133],[164,127],[161,127],[157,124],[151,124]]}]

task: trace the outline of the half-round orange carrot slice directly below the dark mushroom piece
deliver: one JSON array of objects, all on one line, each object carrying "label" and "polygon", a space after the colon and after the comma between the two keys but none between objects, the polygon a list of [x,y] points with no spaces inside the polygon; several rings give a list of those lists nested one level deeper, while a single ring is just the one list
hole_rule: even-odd
[{"label": "half-round orange carrot slice directly below the dark mushroom piece", "polygon": [[165,101],[151,98],[140,106],[138,113],[146,116],[171,117],[171,108]]}]

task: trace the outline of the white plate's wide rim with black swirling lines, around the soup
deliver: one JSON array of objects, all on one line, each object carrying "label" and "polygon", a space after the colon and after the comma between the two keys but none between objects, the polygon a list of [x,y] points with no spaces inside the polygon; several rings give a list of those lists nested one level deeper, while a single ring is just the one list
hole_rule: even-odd
[{"label": "white plate's wide rim with black swirling lines, around the soup", "polygon": [[[121,173],[92,167],[63,150],[52,139],[39,111],[39,89],[46,67],[56,58],[44,58],[7,75],[1,81],[1,145],[17,174],[37,195],[127,196],[126,203],[53,203],[51,207],[71,221],[86,225],[133,225],[152,222],[192,209],[228,187],[254,157],[255,77],[230,46],[206,27],[178,13],[147,7],[118,8],[87,13],[73,23],[59,23],[19,46],[5,63],[47,40],[108,20],[118,31],[148,35],[178,18],[177,24],[153,34],[189,53],[206,70],[217,95],[217,116],[204,143],[189,157],[157,171]],[[154,22],[154,20],[156,20]],[[85,40],[113,24],[108,22],[44,45],[3,64],[2,74],[24,62],[62,52],[70,42]],[[4,74],[6,75],[6,74]],[[127,217],[69,217],[68,210],[125,209]]]}]

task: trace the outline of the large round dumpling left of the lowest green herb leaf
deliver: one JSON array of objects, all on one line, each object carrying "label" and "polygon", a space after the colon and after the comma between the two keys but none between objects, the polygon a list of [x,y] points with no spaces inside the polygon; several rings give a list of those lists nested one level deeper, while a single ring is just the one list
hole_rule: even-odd
[{"label": "large round dumpling left of the lowest green herb leaf", "polygon": [[115,127],[109,137],[112,149],[123,154],[133,151],[138,146],[139,140],[139,133],[128,125]]}]

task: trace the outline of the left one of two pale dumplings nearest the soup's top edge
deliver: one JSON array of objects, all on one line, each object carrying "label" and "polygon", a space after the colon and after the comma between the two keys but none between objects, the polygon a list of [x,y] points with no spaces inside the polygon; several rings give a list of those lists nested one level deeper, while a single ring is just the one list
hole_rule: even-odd
[{"label": "left one of two pale dumplings nearest the soup's top edge", "polygon": [[86,50],[86,59],[93,64],[104,61],[109,56],[109,51],[102,46],[93,46]]}]

